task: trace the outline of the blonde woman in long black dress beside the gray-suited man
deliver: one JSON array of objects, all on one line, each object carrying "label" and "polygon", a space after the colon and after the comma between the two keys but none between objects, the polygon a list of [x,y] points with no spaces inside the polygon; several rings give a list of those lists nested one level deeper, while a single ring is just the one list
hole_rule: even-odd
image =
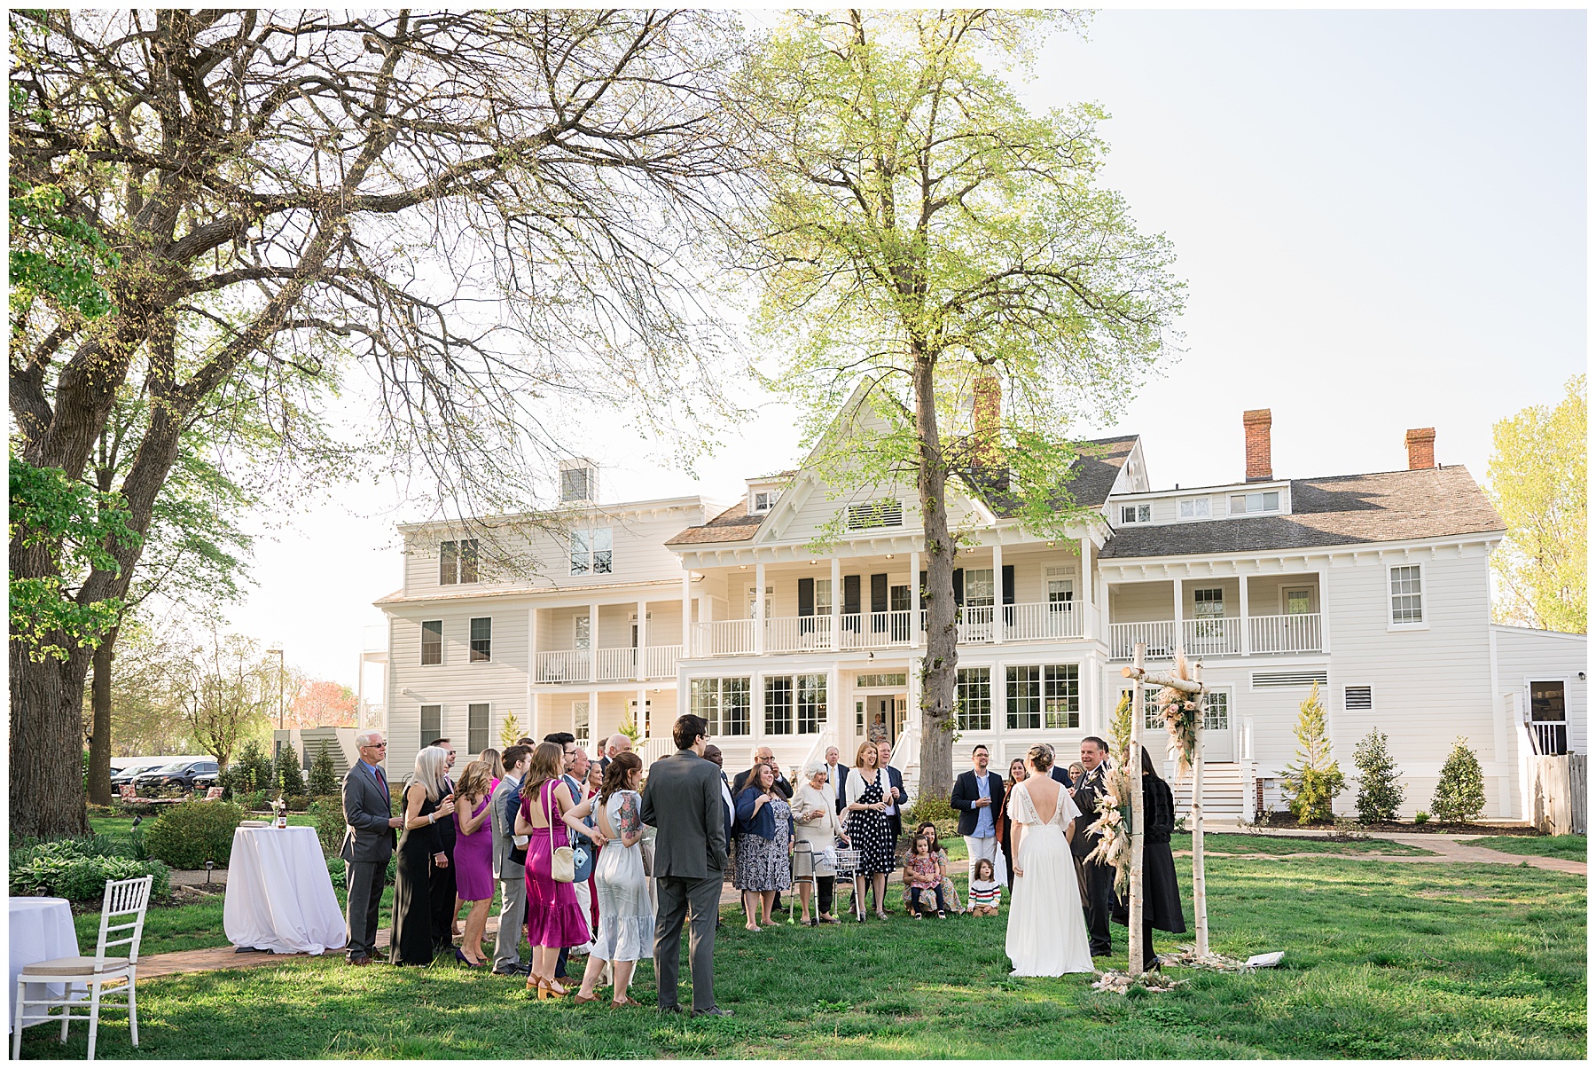
[{"label": "blonde woman in long black dress beside the gray-suited man", "polygon": [[433,868],[448,868],[448,855],[437,837],[437,821],[455,812],[455,799],[444,794],[442,746],[426,746],[415,756],[415,772],[404,788],[404,834],[394,871],[393,938],[388,960],[394,965],[433,962]]}]

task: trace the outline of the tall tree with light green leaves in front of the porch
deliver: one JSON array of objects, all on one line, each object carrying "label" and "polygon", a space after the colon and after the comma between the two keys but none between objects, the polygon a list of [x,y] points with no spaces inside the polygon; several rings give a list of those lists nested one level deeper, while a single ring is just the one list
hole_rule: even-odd
[{"label": "tall tree with light green leaves in front of the porch", "polygon": [[[774,383],[804,412],[828,481],[918,492],[922,793],[953,781],[954,484],[1001,499],[1028,529],[1079,537],[1071,428],[1124,409],[1171,352],[1181,308],[1168,241],[1138,230],[1100,181],[1104,112],[1034,115],[1009,80],[1029,75],[1047,34],[1080,22],[788,14],[737,85],[768,185],[733,240],[755,324],[780,353]],[[884,430],[828,439],[860,387]]]}]

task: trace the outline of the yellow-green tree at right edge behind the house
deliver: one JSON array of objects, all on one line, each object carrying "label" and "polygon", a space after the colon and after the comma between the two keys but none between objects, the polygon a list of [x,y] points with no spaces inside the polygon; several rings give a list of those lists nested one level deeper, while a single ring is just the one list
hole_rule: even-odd
[{"label": "yellow-green tree at right edge behind the house", "polygon": [[1491,554],[1492,615],[1585,634],[1585,376],[1564,383],[1556,407],[1532,404],[1492,427],[1491,438],[1486,492],[1507,524]]}]

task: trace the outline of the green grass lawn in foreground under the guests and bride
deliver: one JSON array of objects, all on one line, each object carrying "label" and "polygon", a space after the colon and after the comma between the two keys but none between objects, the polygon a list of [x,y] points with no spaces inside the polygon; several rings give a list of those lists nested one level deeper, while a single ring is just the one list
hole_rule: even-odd
[{"label": "green grass lawn in foreground under the guests and bride", "polygon": [[[1127,999],[1090,991],[1087,976],[1009,978],[1004,917],[894,912],[884,924],[755,935],[728,909],[715,965],[731,1019],[530,1003],[519,981],[452,964],[353,970],[295,959],[140,984],[142,1047],[109,1024],[99,1055],[988,1061],[1057,1058],[1065,1043],[1071,1058],[1585,1058],[1582,877],[1215,858],[1208,887],[1215,949],[1283,949],[1282,968],[1171,970],[1191,983]],[[1116,928],[1116,949],[1124,935]],[[1159,946],[1183,938],[1160,935]],[[653,1002],[651,988],[643,962],[634,994]],[[83,1056],[81,1024],[65,1048],[46,1031],[29,1032],[27,1056]]]}]

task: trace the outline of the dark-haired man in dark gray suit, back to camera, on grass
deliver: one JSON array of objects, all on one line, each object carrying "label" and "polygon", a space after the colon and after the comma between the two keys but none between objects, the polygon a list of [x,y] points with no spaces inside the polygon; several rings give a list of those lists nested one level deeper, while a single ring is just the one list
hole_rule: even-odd
[{"label": "dark-haired man in dark gray suit, back to camera, on grass", "polygon": [[704,759],[709,724],[680,716],[670,735],[677,753],[648,769],[643,823],[654,839],[654,976],[661,1013],[680,1013],[677,975],[681,968],[681,922],[693,925],[688,962],[693,970],[693,1016],[731,1016],[715,1005],[715,920],[720,917],[721,872],[726,868],[726,820],[720,770]]}]

